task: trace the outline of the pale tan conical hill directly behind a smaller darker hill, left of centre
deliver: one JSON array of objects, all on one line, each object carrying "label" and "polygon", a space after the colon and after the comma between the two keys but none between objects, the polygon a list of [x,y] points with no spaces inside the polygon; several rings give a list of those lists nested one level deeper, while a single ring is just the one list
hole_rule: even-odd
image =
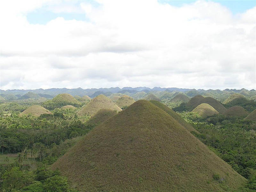
[{"label": "pale tan conical hill directly behind a smaller darker hill, left of centre", "polygon": [[122,111],[120,107],[118,107],[114,101],[110,100],[105,95],[98,95],[93,98],[87,105],[85,105],[80,111],[78,111],[78,116],[92,116],[97,113],[100,109],[109,108],[113,111]]}]

